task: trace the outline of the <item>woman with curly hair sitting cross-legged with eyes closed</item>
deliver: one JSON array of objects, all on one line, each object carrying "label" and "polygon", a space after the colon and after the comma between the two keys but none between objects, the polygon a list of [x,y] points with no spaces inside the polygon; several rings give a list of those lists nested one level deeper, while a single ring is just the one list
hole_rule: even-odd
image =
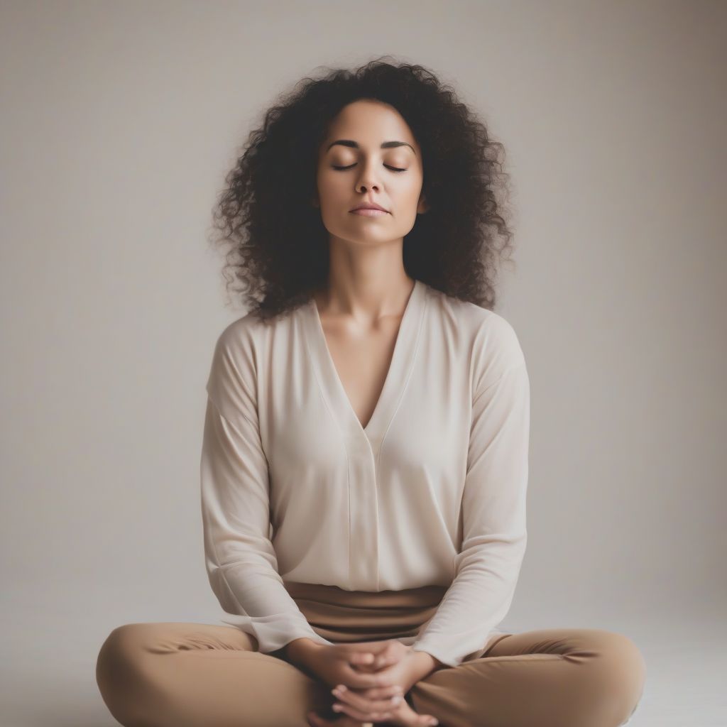
[{"label": "woman with curly hair sitting cross-legged with eyes closed", "polygon": [[125,726],[635,710],[627,636],[497,629],[526,549],[530,406],[492,310],[501,151],[433,73],[381,59],[305,79],[251,135],[216,217],[251,310],[214,348],[201,457],[228,625],[114,629],[97,681]]}]

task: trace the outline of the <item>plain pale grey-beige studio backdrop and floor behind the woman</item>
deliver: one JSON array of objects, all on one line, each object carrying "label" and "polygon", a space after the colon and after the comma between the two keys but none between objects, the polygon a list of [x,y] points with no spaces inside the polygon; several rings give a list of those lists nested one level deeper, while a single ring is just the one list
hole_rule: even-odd
[{"label": "plain pale grey-beige studio backdrop and floor behind the woman", "polygon": [[3,727],[112,725],[113,627],[220,623],[204,385],[245,310],[212,207],[278,93],[383,54],[454,84],[507,150],[496,310],[532,422],[502,627],[627,633],[634,725],[727,723],[727,4],[0,7]]}]

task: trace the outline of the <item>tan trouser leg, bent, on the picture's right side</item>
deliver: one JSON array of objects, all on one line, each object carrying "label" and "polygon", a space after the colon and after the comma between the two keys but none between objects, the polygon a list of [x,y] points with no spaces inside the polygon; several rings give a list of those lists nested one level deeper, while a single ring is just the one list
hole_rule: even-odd
[{"label": "tan trouser leg, bent, on the picture's right side", "polygon": [[619,727],[643,694],[646,662],[627,636],[558,628],[506,635],[478,659],[409,692],[443,727]]}]

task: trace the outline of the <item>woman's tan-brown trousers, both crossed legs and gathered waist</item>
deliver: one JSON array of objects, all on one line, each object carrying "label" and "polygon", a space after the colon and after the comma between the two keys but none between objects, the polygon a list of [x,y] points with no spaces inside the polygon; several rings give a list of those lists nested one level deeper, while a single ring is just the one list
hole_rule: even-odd
[{"label": "woman's tan-brown trousers, both crossed legs and gathered waist", "polygon": [[[446,590],[286,588],[316,632],[334,643],[414,635]],[[100,648],[96,679],[124,727],[306,727],[311,710],[340,718],[330,709],[332,685],[282,652],[260,654],[252,636],[227,624],[116,627]],[[551,628],[494,635],[459,666],[417,682],[406,699],[441,727],[619,727],[645,681],[646,662],[627,636]]]}]

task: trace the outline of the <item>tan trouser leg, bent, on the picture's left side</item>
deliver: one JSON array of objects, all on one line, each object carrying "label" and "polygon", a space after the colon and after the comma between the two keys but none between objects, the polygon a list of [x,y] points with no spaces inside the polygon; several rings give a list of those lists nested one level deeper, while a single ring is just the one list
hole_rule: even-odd
[{"label": "tan trouser leg, bent, on the picture's left side", "polygon": [[96,680],[124,727],[301,727],[331,702],[321,683],[228,625],[119,626],[100,648]]}]

